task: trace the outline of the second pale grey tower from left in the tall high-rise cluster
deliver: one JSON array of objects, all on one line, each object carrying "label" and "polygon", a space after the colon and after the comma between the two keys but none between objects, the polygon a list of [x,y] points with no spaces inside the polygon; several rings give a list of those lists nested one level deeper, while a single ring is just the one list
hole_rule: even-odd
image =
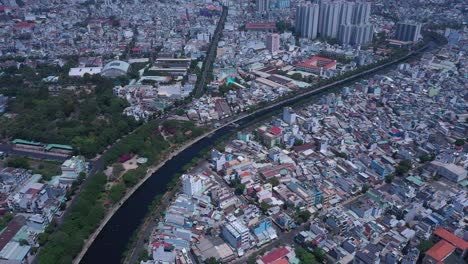
[{"label": "second pale grey tower from left in the tall high-rise cluster", "polygon": [[320,37],[337,38],[343,2],[323,1],[320,3],[318,33]]}]

